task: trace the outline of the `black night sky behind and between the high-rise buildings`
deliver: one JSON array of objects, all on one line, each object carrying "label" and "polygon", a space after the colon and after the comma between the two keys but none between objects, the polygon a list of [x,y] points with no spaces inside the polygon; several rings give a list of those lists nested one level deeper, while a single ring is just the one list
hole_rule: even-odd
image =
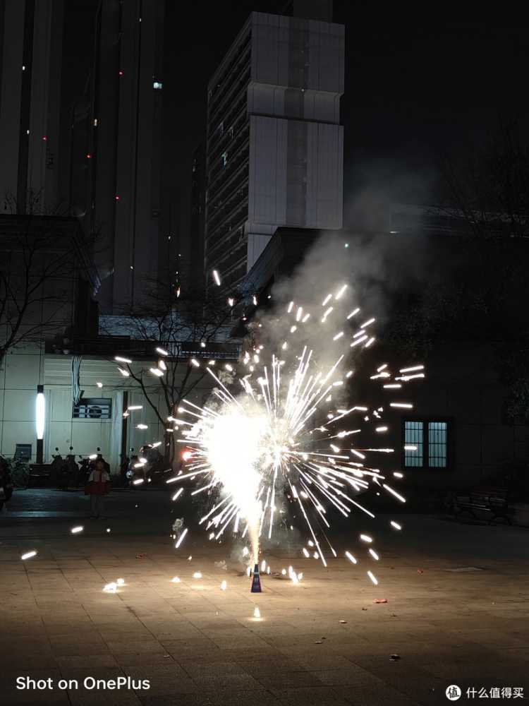
[{"label": "black night sky behind and between the high-rise buildings", "polygon": [[[90,64],[95,4],[68,4],[65,65],[72,88]],[[183,234],[191,155],[205,127],[207,80],[248,13],[278,11],[283,2],[167,5],[164,143],[170,160],[164,184],[171,194],[171,230]],[[500,18],[485,16],[482,7],[465,4],[463,17],[461,2],[444,2],[434,12],[424,4],[335,1],[334,20],[346,25],[346,219],[355,196],[371,189],[427,198],[422,186],[430,183],[436,151],[485,134],[499,112],[527,115],[528,25],[516,12],[509,16],[509,4]]]}]

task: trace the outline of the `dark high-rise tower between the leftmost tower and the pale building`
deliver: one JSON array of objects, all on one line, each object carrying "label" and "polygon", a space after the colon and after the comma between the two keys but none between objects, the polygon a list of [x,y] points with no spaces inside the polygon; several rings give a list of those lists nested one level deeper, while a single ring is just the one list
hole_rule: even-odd
[{"label": "dark high-rise tower between the leftmost tower and the pale building", "polygon": [[164,0],[100,0],[87,95],[73,113],[71,201],[98,234],[104,313],[167,269],[159,232]]}]

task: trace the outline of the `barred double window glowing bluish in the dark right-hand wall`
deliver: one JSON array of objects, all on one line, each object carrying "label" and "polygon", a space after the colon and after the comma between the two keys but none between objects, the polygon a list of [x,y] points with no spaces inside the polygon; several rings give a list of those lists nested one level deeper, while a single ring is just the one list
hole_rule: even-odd
[{"label": "barred double window glowing bluish in the dark right-hand wall", "polygon": [[447,421],[405,421],[404,465],[407,468],[446,468],[448,428]]}]

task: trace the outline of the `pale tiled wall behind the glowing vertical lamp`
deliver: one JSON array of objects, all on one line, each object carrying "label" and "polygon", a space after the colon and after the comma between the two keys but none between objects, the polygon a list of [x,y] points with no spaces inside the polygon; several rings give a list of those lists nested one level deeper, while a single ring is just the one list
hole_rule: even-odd
[{"label": "pale tiled wall behind the glowing vertical lamp", "polygon": [[[183,366],[182,374],[186,367]],[[202,371],[192,373],[202,375]],[[212,390],[212,378],[205,376],[189,399],[202,405]],[[98,388],[96,383],[103,383]],[[159,424],[152,407],[147,404],[135,383],[123,378],[115,363],[102,359],[83,359],[80,388],[83,397],[104,397],[112,401],[112,419],[73,419],[71,388],[71,356],[46,355],[38,347],[8,354],[0,369],[0,453],[12,457],[16,443],[32,445],[32,461],[36,460],[35,398],[37,385],[44,384],[46,426],[44,461],[51,461],[55,447],[62,455],[73,446],[73,453],[90,455],[99,446],[114,471],[118,470],[121,453],[123,390],[128,390],[128,404],[142,405],[128,418],[127,450],[153,441],[164,441],[164,424]],[[152,400],[166,415],[164,400],[154,392]],[[148,429],[137,429],[147,424]],[[167,426],[170,426],[169,424]]]}]

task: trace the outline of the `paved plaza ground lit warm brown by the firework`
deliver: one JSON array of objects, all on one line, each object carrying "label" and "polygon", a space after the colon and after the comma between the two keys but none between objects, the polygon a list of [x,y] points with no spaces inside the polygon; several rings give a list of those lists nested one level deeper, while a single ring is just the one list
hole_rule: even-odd
[{"label": "paved plaza ground lit warm brown by the firework", "polygon": [[[413,706],[448,703],[451,684],[460,703],[473,700],[467,688],[478,700],[482,688],[522,687],[529,699],[529,530],[399,515],[398,533],[381,515],[342,532],[328,568],[265,552],[272,570],[291,564],[304,578],[265,576],[250,594],[229,542],[193,531],[174,549],[165,494],[116,492],[107,509],[90,521],[82,494],[34,489],[0,515],[0,704]],[[379,562],[360,550],[367,528]],[[102,592],[117,578],[116,594]],[[17,690],[19,676],[54,689]],[[118,676],[150,689],[83,687]],[[79,688],[59,689],[61,678]]]}]

